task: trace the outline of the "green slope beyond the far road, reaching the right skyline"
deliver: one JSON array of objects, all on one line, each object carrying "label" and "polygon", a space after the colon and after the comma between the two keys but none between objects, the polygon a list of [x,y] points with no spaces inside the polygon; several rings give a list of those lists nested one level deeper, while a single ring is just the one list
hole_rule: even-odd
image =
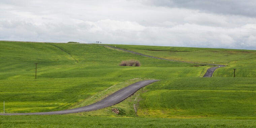
[{"label": "green slope beyond the far road, reaching the right skyline", "polygon": [[217,69],[213,74],[214,77],[232,77],[233,68],[237,69],[236,77],[256,77],[255,50],[118,44],[112,46],[171,60],[227,65]]}]

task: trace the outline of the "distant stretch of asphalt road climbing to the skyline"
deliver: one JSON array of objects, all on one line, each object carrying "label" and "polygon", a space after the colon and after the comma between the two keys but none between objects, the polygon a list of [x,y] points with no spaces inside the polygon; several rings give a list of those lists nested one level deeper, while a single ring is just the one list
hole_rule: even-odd
[{"label": "distant stretch of asphalt road climbing to the skyline", "polygon": [[[144,54],[141,54],[141,53],[137,53],[137,52],[133,52],[133,51],[121,49],[121,48],[119,48],[119,47],[113,47],[113,46],[108,46],[108,45],[103,45],[103,46],[111,47],[111,48],[118,49],[118,50],[122,50],[122,51],[126,51],[126,52],[133,53],[133,54],[137,54],[137,55],[140,55],[140,56],[145,56],[145,57],[160,59],[160,60],[168,60],[168,61],[184,62],[184,63],[192,63],[192,64],[204,64],[204,63],[194,63],[194,62],[186,62],[186,61],[178,61],[178,60],[169,60],[169,59],[164,59],[164,58],[159,58],[159,57],[153,57],[153,56],[144,55]],[[203,75],[203,77],[212,77],[214,71],[215,71],[217,68],[219,68],[219,67],[226,67],[226,65],[218,65],[218,64],[205,64],[205,65],[215,65],[215,66],[217,66],[217,67],[211,67],[211,68],[209,68],[209,69],[206,71],[206,73]]]}]

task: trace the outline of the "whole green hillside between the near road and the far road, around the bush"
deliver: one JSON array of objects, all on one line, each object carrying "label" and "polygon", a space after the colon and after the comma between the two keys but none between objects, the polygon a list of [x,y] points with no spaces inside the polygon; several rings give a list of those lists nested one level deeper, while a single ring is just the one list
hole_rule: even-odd
[{"label": "whole green hillside between the near road and the far road, around the bush", "polygon": [[[0,45],[3,53],[0,101],[6,102],[7,113],[63,110],[129,79],[199,77],[207,68],[141,57],[100,45],[23,42]],[[141,67],[118,66],[127,59],[139,60]],[[34,63],[38,63],[37,79]]]}]

